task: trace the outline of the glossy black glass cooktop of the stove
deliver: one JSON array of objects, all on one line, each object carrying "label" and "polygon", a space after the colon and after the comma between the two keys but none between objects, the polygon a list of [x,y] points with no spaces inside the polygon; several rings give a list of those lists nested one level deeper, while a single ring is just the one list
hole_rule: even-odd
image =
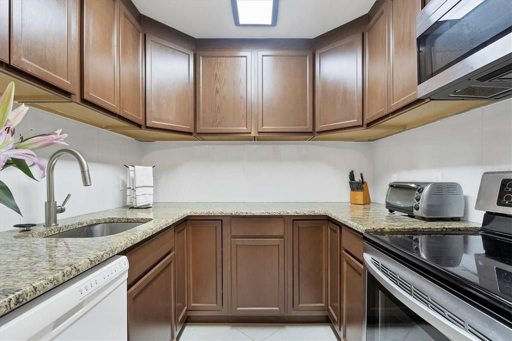
[{"label": "glossy black glass cooktop of the stove", "polygon": [[512,240],[486,232],[371,233],[379,244],[426,261],[512,305]]}]

